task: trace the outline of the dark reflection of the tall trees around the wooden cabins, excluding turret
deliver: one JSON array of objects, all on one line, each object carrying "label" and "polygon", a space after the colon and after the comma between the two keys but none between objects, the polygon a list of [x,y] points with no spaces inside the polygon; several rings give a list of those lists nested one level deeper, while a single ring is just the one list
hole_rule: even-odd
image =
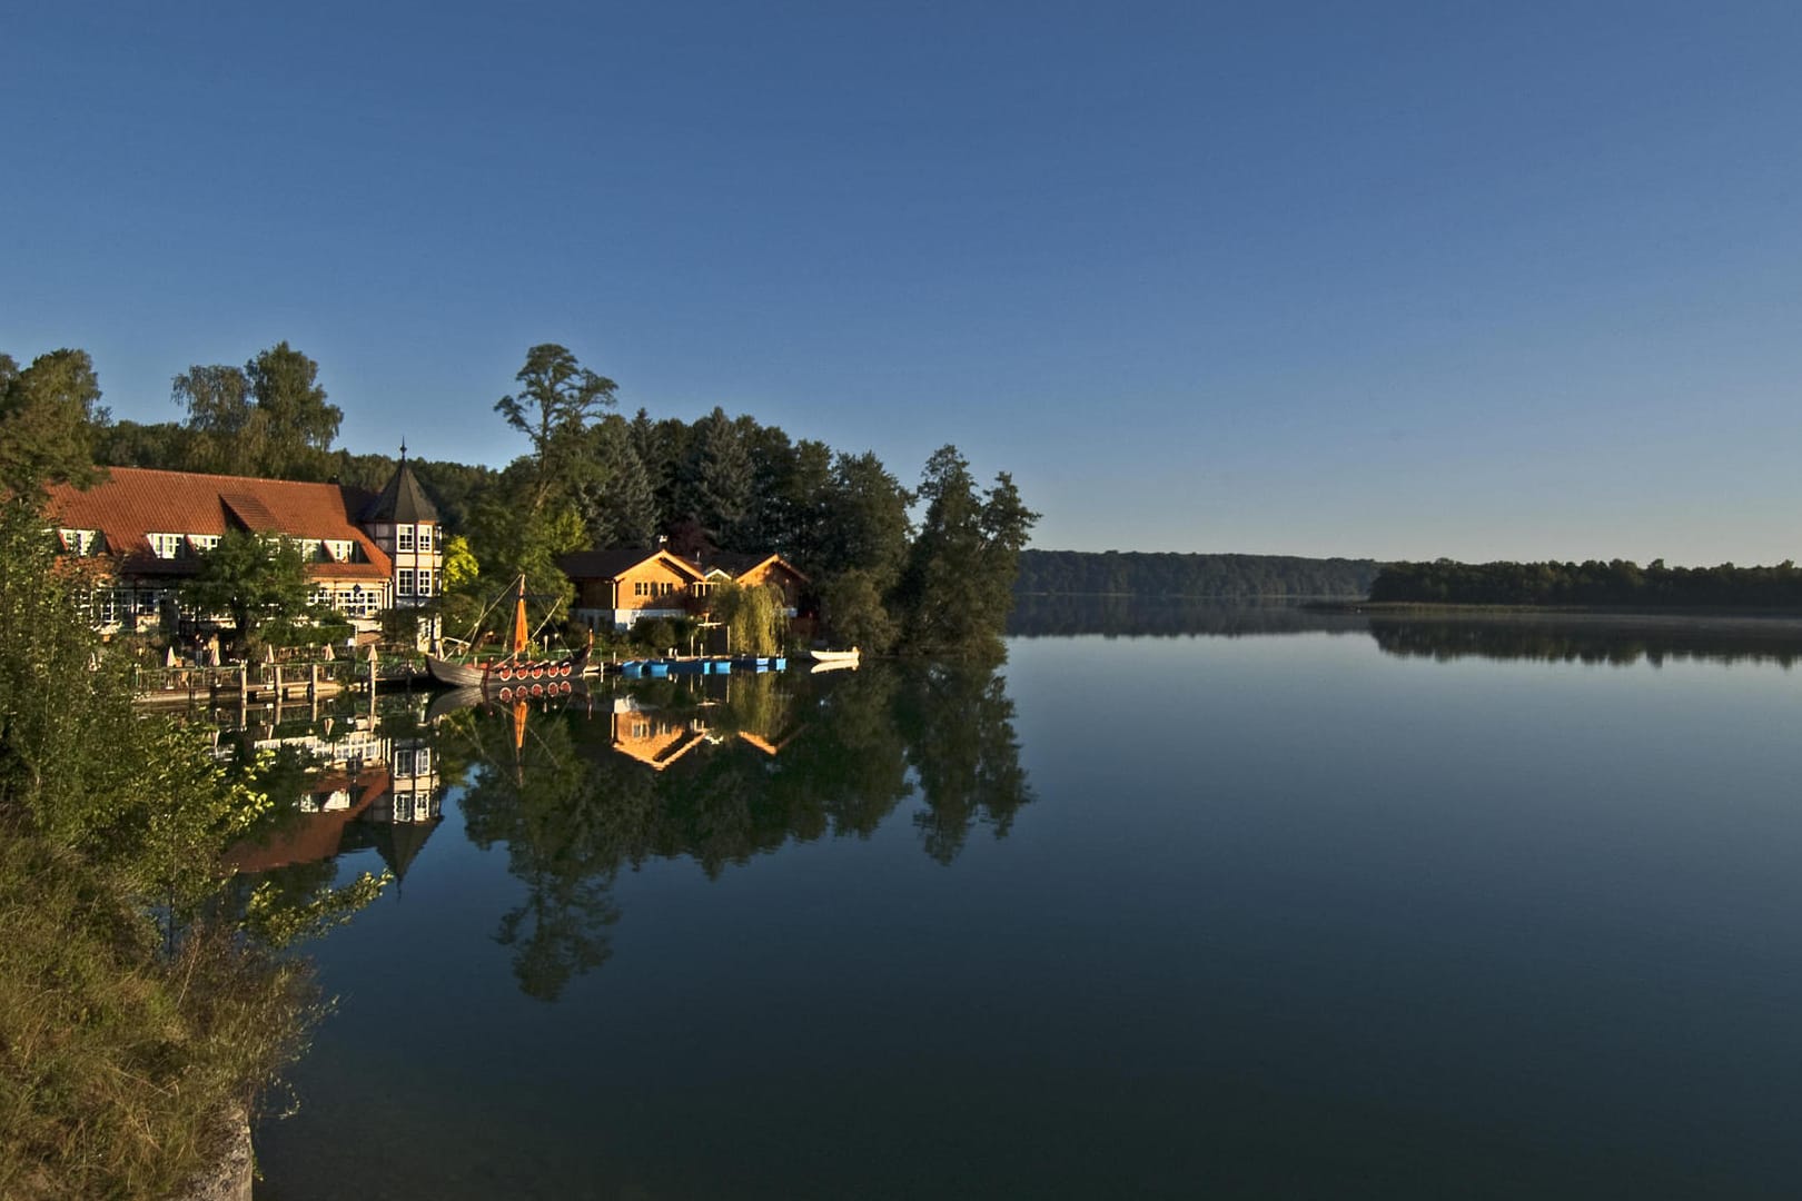
[{"label": "dark reflection of the tall trees around the wooden cabins, excluding turret", "polygon": [[515,762],[505,717],[460,718],[469,837],[505,843],[526,888],[497,940],[514,947],[519,987],[544,1001],[607,960],[625,868],[692,859],[717,879],[789,841],[869,837],[914,792],[910,772],[926,850],[950,862],[973,825],[1000,837],[1031,799],[1013,702],[986,668],[762,675],[710,704],[667,682],[633,697],[634,711],[696,722],[706,742],[656,771],[614,751],[607,720],[551,711],[532,717]]}]

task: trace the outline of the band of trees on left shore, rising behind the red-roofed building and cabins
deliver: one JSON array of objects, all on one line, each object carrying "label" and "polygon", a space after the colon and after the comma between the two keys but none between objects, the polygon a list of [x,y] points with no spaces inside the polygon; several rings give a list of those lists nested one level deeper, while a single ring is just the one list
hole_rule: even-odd
[{"label": "band of trees on left shore, rising behind the red-roofed building and cabins", "polygon": [[[396,459],[333,447],[342,411],[317,376],[317,362],[279,342],[241,367],[196,364],[177,375],[182,420],[112,421],[85,351],[52,351],[25,369],[0,355],[0,436],[20,447],[7,450],[20,486],[142,466],[378,490]],[[813,607],[843,645],[998,652],[1018,555],[1038,519],[1007,472],[984,486],[946,445],[908,488],[872,452],[796,439],[748,414],[715,407],[683,421],[638,409],[627,418],[616,412],[618,385],[555,344],[530,348],[515,382],[494,411],[526,438],[526,454],[499,470],[409,459],[463,538],[445,571],[450,625],[479,612],[479,592],[496,580],[526,574],[532,591],[568,600],[560,555],[651,549],[665,538],[699,560],[780,553],[811,580]]]}]

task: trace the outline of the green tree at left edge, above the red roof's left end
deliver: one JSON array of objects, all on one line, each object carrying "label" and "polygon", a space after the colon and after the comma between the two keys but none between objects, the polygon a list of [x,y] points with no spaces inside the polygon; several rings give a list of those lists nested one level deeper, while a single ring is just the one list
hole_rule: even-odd
[{"label": "green tree at left edge, above the red roof's left end", "polygon": [[0,490],[36,497],[47,483],[94,483],[94,445],[106,425],[99,400],[86,351],[50,351],[23,371],[0,355]]}]

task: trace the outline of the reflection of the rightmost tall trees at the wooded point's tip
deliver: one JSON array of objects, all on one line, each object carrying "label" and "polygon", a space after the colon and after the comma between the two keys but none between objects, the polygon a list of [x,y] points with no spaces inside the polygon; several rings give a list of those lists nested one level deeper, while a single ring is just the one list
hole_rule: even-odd
[{"label": "reflection of the rightmost tall trees at the wooded point's tip", "polygon": [[1015,810],[1033,799],[1013,713],[991,670],[942,664],[908,677],[896,717],[926,801],[914,825],[939,862],[957,859],[977,821],[1006,837]]}]

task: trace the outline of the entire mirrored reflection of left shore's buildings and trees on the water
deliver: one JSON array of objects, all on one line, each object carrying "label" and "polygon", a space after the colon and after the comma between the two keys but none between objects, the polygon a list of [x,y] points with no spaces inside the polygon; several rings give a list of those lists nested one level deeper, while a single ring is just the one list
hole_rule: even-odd
[{"label": "entire mirrored reflection of left shore's buildings and trees on the water", "polygon": [[225,745],[276,756],[268,787],[292,819],[231,864],[296,904],[364,850],[404,882],[461,785],[469,841],[524,888],[494,938],[519,989],[555,1001],[613,954],[614,884],[651,861],[719,879],[787,843],[869,837],[910,798],[941,864],[978,830],[1006,837],[1033,799],[1013,717],[991,668],[867,664],[596,684],[533,706],[443,693],[254,727]]}]

